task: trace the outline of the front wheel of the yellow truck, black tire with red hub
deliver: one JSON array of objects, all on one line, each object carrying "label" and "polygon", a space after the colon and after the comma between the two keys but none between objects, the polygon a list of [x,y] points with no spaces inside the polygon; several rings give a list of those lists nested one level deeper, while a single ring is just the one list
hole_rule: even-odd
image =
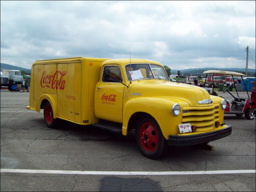
[{"label": "front wheel of the yellow truck, black tire with red hub", "polygon": [[167,140],[163,137],[158,123],[151,116],[139,119],[135,135],[140,152],[149,159],[157,159],[168,148]]}]

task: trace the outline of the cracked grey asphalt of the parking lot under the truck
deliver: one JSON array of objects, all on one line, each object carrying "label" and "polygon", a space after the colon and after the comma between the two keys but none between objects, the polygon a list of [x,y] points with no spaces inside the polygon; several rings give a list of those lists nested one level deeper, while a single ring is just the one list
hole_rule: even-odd
[{"label": "cracked grey asphalt of the parking lot under the truck", "polygon": [[[243,93],[244,94],[244,93]],[[229,99],[228,93],[220,95]],[[255,119],[225,115],[232,134],[200,146],[170,147],[157,160],[139,152],[134,131],[122,136],[62,121],[46,127],[26,110],[29,93],[1,90],[1,169],[70,171],[255,170]],[[1,191],[255,191],[255,173],[79,175],[1,172]]]}]

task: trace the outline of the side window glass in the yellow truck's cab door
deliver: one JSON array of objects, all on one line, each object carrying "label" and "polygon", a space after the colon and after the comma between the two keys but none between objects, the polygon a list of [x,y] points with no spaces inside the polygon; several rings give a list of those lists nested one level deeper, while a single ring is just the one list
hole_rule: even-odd
[{"label": "side window glass in the yellow truck's cab door", "polygon": [[123,77],[122,77],[120,67],[118,66],[104,67],[102,82],[120,83],[120,81],[123,82]]}]

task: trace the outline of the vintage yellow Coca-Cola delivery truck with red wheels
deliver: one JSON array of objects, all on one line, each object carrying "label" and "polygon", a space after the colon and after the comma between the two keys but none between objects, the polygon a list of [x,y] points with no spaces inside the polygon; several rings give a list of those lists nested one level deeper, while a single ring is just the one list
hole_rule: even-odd
[{"label": "vintage yellow Coca-Cola delivery truck with red wheels", "polygon": [[231,134],[226,100],[204,88],[170,82],[161,63],[75,57],[35,61],[29,106],[50,128],[58,119],[127,135],[158,158],[170,146],[207,144]]}]

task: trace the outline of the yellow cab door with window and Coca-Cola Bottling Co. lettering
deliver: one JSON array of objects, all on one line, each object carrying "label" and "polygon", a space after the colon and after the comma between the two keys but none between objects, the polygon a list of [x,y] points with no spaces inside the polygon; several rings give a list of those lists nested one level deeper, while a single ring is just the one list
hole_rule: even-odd
[{"label": "yellow cab door with window and Coca-Cola Bottling Co. lettering", "polygon": [[120,67],[104,66],[95,88],[94,110],[97,118],[122,123],[124,85],[118,80],[123,82]]}]

